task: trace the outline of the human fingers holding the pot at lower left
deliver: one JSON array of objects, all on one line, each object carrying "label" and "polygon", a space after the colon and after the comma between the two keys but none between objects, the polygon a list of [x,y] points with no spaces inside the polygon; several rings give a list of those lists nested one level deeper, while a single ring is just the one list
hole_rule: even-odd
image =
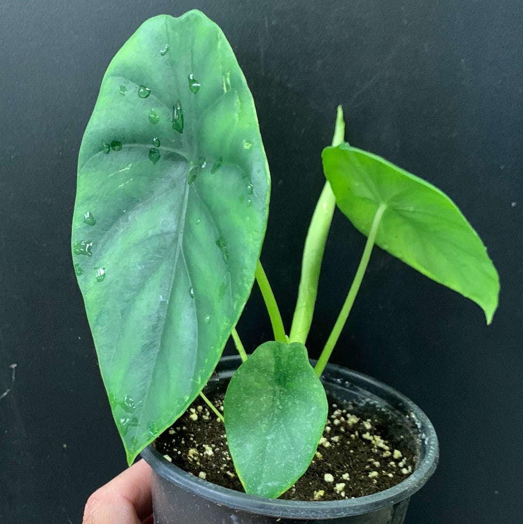
[{"label": "human fingers holding the pot at lower left", "polygon": [[87,499],[82,524],[153,524],[149,465],[142,459],[98,488]]}]

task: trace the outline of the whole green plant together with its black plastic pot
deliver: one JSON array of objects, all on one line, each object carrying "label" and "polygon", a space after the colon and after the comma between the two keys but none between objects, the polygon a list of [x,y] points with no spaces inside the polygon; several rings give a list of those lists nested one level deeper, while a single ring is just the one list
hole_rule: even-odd
[{"label": "whole green plant together with its black plastic pot", "polygon": [[[328,359],[374,244],[474,300],[488,323],[497,306],[497,272],[446,195],[343,140],[339,108],[332,146],[322,152],[327,181],[310,223],[287,333],[259,260],[269,169],[252,96],[221,30],[198,11],[151,18],[107,69],[80,150],[73,259],[128,462],[143,452],[154,464],[158,522],[222,514],[233,522],[344,517],[354,524],[400,523],[408,497],[436,467],[436,435],[421,410]],[[336,205],[368,240],[313,367],[305,343]],[[254,279],[274,340],[247,358],[235,326]],[[218,365],[231,335],[240,357]],[[203,390],[227,383],[221,414]],[[374,495],[350,498],[347,483],[336,482],[340,500],[279,500],[320,460],[318,444],[331,428],[326,389],[347,406],[382,413],[413,452],[411,470]],[[151,447],[143,451],[198,396],[224,421],[247,494],[192,477]],[[349,418],[347,409],[340,413]],[[355,434],[372,441],[382,457],[402,462],[403,454],[377,436]],[[328,475],[326,482],[338,480]],[[381,464],[368,472],[369,478],[380,475],[388,475]],[[188,508],[200,513],[190,515]]]}]

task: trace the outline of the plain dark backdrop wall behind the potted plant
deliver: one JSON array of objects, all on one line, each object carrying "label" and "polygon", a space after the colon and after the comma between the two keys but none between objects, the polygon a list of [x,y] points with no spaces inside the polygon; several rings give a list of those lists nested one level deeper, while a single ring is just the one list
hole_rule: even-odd
[{"label": "plain dark backdrop wall behind the potted plant", "polygon": [[[273,177],[262,261],[287,325],[337,104],[353,145],[436,184],[483,238],[502,285],[491,326],[376,249],[333,361],[436,426],[440,464],[407,524],[521,522],[520,0],[0,3],[0,522],[79,524],[126,465],[72,268],[76,158],[115,52],[146,18],[193,7],[224,30],[257,105]],[[313,356],[363,244],[338,213]],[[249,350],[269,336],[257,292],[238,329]]]}]

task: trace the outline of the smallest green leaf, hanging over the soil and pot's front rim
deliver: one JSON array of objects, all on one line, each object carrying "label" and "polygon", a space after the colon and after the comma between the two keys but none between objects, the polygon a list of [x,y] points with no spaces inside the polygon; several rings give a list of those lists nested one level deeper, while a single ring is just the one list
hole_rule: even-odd
[{"label": "smallest green leaf, hanging over the soil and pot's front rim", "polygon": [[276,498],[301,477],[327,420],[327,397],[303,344],[266,342],[232,376],[227,441],[247,493]]}]

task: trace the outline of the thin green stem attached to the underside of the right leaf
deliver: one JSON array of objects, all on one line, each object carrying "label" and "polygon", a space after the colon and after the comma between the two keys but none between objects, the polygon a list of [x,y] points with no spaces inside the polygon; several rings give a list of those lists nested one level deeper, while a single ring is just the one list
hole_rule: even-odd
[{"label": "thin green stem attached to the underside of the right leaf", "polygon": [[386,204],[380,204],[380,207],[377,209],[376,214],[374,215],[371,230],[369,231],[369,237],[367,238],[365,249],[363,250],[363,255],[361,256],[360,264],[358,266],[358,270],[356,271],[356,275],[354,276],[354,280],[352,281],[349,293],[347,294],[347,298],[343,303],[343,307],[341,308],[340,314],[338,315],[336,324],[334,325],[334,328],[332,328],[332,332],[329,336],[329,339],[327,340],[327,343],[325,344],[324,350],[321,352],[321,355],[318,358],[318,362],[316,363],[316,367],[314,368],[318,377],[323,373],[323,370],[325,369],[325,366],[329,361],[329,357],[332,353],[332,350],[334,349],[336,342],[338,342],[341,330],[343,329],[343,326],[347,321],[347,317],[349,316],[352,304],[354,303],[354,299],[358,294],[361,281],[363,280],[363,276],[365,275],[365,269],[369,264],[369,259],[371,257],[372,247],[374,246],[374,241],[376,239],[377,230],[380,226],[381,218],[386,208]]}]

